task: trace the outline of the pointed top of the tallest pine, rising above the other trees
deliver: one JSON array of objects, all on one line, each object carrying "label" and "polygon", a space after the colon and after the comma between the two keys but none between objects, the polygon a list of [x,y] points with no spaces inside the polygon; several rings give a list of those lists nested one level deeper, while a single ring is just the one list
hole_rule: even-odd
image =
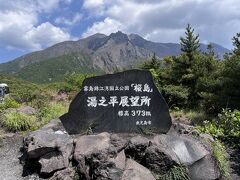
[{"label": "pointed top of the tallest pine, rising above the other trees", "polygon": [[190,24],[186,27],[185,37],[180,37],[181,51],[186,53],[189,61],[193,60],[194,53],[198,52],[199,44],[199,35],[194,34],[194,29]]}]

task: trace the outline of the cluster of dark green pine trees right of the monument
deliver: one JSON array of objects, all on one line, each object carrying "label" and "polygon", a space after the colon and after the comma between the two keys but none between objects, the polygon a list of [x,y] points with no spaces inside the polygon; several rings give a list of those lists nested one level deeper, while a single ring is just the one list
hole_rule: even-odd
[{"label": "cluster of dark green pine trees right of the monument", "polygon": [[181,37],[182,54],[155,56],[141,68],[149,69],[159,90],[170,107],[202,109],[218,114],[222,108],[240,107],[240,46],[239,34],[233,38],[234,51],[218,59],[209,44],[208,52],[199,51],[199,36],[188,25]]}]

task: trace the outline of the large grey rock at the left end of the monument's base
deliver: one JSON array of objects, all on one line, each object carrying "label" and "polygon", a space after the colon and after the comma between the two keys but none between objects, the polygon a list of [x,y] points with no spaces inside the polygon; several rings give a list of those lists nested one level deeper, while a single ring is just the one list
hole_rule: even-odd
[{"label": "large grey rock at the left end of the monument's base", "polygon": [[40,174],[49,175],[69,167],[73,139],[61,130],[54,131],[51,124],[56,125],[57,122],[54,120],[24,138],[25,158],[28,162],[35,161],[40,165]]}]

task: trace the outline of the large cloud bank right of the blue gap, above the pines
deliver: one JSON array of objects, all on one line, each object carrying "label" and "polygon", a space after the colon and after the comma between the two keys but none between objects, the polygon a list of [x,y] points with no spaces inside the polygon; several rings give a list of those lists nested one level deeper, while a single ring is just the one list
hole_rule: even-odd
[{"label": "large cloud bank right of the blue gap, above the pines", "polygon": [[[94,23],[84,35],[117,29],[137,33],[149,40],[179,42],[187,23],[202,41],[231,47],[231,38],[239,31],[240,3],[236,0],[85,0],[84,8],[104,20]],[[92,13],[94,11],[94,13]],[[98,13],[99,12],[99,13]],[[107,23],[106,20],[111,22]],[[113,27],[114,26],[114,27]]]}]

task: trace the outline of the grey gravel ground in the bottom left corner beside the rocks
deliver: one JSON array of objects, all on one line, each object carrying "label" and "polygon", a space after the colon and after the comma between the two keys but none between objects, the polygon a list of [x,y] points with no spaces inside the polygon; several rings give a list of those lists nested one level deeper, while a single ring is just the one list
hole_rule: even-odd
[{"label": "grey gravel ground in the bottom left corner beside the rocks", "polygon": [[19,163],[22,136],[6,137],[0,145],[1,180],[39,180],[35,175],[22,177],[23,166]]}]

